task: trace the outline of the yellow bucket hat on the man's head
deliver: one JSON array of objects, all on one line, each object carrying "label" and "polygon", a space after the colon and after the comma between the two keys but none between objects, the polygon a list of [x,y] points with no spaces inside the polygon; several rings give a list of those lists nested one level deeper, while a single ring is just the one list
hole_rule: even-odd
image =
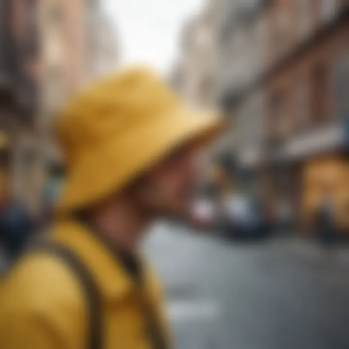
[{"label": "yellow bucket hat on the man's head", "polygon": [[89,206],[185,141],[208,141],[217,115],[184,106],[155,73],[133,68],[73,97],[58,119],[67,177],[58,210]]}]

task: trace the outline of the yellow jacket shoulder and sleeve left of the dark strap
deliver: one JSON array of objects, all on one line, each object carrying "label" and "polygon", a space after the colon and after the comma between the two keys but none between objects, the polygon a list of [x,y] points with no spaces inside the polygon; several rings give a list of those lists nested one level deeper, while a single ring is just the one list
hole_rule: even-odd
[{"label": "yellow jacket shoulder and sleeve left of the dark strap", "polygon": [[48,348],[57,346],[57,340],[64,348],[81,348],[85,313],[79,280],[56,256],[25,256],[1,281],[0,337],[8,339],[8,348],[17,348],[13,343],[19,336],[38,340],[37,348],[44,338]]}]

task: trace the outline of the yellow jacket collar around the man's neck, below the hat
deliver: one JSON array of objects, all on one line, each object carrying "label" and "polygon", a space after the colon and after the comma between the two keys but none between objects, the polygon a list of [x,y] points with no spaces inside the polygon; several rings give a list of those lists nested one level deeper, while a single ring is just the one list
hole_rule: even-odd
[{"label": "yellow jacket collar around the man's neck, below the hat", "polygon": [[74,219],[59,221],[52,233],[53,241],[71,248],[81,258],[104,297],[121,299],[135,291],[137,285],[120,258],[86,225]]}]

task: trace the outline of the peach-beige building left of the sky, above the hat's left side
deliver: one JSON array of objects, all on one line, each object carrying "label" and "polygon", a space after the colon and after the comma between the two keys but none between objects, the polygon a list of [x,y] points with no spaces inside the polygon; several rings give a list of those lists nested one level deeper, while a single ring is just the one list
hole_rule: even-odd
[{"label": "peach-beige building left of the sky, above the hat's left side", "polygon": [[95,76],[95,14],[99,1],[42,1],[43,124],[69,95]]}]

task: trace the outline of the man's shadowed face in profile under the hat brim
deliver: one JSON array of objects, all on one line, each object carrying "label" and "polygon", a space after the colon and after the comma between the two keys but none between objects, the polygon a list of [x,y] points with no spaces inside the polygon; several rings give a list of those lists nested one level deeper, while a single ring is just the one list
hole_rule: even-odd
[{"label": "man's shadowed face in profile under the hat brim", "polygon": [[186,145],[176,149],[134,187],[137,204],[153,216],[187,216],[198,179],[199,162],[196,148]]}]

